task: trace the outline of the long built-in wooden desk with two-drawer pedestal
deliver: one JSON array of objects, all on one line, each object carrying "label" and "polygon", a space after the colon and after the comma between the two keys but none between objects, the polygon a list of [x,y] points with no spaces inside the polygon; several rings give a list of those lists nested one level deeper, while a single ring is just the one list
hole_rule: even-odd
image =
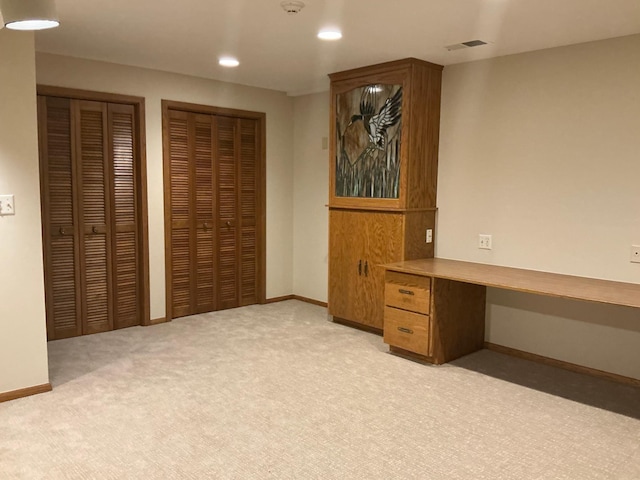
[{"label": "long built-in wooden desk with two-drawer pedestal", "polygon": [[483,348],[486,287],[640,308],[635,283],[441,258],[384,268],[385,342],[394,353],[436,364]]}]

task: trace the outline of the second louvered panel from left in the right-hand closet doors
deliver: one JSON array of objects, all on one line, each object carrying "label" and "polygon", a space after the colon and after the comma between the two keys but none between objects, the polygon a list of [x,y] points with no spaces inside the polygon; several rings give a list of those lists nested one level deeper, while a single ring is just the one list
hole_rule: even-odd
[{"label": "second louvered panel from left in the right-hand closet doors", "polygon": [[196,183],[196,309],[194,313],[215,310],[214,171],[213,133],[210,115],[193,115],[194,164]]}]

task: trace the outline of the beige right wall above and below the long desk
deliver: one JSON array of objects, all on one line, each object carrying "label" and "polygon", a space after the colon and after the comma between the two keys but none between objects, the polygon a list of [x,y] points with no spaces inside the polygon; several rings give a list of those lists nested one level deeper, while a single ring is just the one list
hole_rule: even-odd
[{"label": "beige right wall above and below the long desk", "polygon": [[[446,67],[437,256],[640,283],[638,85],[640,35]],[[491,290],[486,339],[640,378],[639,310]]]}]

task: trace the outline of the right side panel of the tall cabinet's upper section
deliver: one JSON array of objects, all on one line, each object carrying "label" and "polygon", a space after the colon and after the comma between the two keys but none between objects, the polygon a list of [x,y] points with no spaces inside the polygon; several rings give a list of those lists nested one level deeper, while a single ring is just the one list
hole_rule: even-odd
[{"label": "right side panel of the tall cabinet's upper section", "polygon": [[435,207],[442,72],[415,65],[411,74],[411,115],[407,154],[407,208]]}]

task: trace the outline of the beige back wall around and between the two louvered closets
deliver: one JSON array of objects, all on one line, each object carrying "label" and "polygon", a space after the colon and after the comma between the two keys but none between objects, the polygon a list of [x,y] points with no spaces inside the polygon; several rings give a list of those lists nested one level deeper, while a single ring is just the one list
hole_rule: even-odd
[{"label": "beige back wall around and between the two louvered closets", "polygon": [[292,280],[293,101],[284,93],[173,73],[37,54],[37,82],[146,99],[151,318],[165,316],[161,100],[267,115],[267,298],[288,295]]}]

